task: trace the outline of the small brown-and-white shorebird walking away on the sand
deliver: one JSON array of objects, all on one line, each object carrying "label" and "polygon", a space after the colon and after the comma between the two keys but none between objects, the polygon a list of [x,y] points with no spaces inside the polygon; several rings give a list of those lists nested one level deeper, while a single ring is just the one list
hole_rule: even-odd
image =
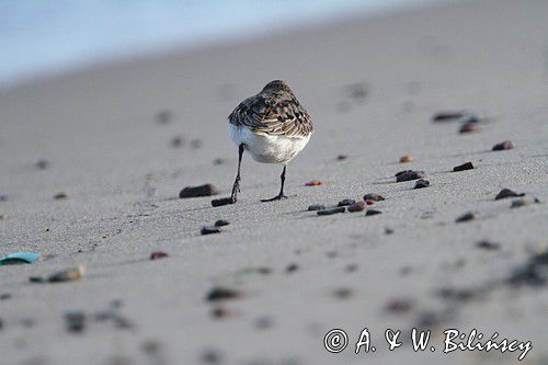
[{"label": "small brown-and-white shorebird walking away on the sand", "polygon": [[261,202],[273,202],[284,194],[287,163],[308,144],[313,133],[312,119],[287,82],[274,80],[258,94],[242,101],[228,116],[230,137],[238,146],[238,173],[229,203],[240,192],[240,167],[243,151],[262,163],[283,166],[279,193]]}]

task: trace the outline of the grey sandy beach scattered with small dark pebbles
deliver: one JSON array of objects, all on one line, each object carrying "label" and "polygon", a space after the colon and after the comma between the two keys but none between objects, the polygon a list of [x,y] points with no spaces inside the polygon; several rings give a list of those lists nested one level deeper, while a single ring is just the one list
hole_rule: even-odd
[{"label": "grey sandy beach scattered with small dark pebbles", "polygon": [[[1,90],[0,255],[45,259],[0,266],[0,363],[518,363],[443,353],[444,330],[477,329],[530,341],[522,363],[546,364],[546,14],[547,1],[483,0],[356,15]],[[275,79],[315,125],[289,198],[261,203],[281,167],[244,155],[238,203],[212,207],[236,175],[227,116]],[[432,121],[461,110],[480,130]],[[401,170],[431,185],[397,183]],[[179,198],[206,183],[219,194]],[[502,189],[528,204],[495,201]],[[369,206],[381,214],[307,210],[367,193],[386,197]],[[230,225],[201,235],[218,219]],[[79,281],[30,282],[79,265]],[[237,297],[207,300],[215,287]],[[376,351],[356,355],[364,328]],[[412,328],[432,330],[434,352],[412,350]],[[324,349],[331,329],[349,334],[341,353]]]}]

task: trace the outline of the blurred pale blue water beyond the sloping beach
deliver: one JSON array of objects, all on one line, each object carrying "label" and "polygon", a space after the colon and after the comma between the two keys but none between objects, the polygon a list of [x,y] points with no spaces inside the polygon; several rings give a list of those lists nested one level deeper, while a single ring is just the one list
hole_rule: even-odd
[{"label": "blurred pale blue water beyond the sloping beach", "polygon": [[0,87],[122,57],[433,1],[0,0]]}]

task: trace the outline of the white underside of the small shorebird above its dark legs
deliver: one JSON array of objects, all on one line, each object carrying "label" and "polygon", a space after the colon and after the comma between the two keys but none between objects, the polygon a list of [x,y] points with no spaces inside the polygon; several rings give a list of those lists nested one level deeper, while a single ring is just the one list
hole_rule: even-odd
[{"label": "white underside of the small shorebird above its dark legs", "polygon": [[264,163],[288,162],[310,139],[310,136],[289,138],[279,135],[258,135],[247,127],[237,127],[232,124],[230,124],[230,137],[237,146],[243,144],[255,161]]}]

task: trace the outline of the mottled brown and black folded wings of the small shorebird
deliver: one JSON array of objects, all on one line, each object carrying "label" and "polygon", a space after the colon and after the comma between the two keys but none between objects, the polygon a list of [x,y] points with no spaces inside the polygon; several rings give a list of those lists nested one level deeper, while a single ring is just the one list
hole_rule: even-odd
[{"label": "mottled brown and black folded wings of the small shorebird", "polygon": [[274,100],[259,94],[241,102],[228,119],[262,135],[304,138],[313,132],[310,115],[295,98]]}]

